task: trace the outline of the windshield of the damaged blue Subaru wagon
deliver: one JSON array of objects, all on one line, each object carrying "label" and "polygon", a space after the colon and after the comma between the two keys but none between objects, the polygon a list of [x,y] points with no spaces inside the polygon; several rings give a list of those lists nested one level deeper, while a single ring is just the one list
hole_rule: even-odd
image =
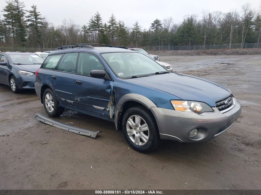
[{"label": "windshield of the damaged blue Subaru wagon", "polygon": [[104,53],[101,55],[111,67],[112,71],[122,79],[166,71],[166,69],[157,62],[141,53],[117,52]]}]

